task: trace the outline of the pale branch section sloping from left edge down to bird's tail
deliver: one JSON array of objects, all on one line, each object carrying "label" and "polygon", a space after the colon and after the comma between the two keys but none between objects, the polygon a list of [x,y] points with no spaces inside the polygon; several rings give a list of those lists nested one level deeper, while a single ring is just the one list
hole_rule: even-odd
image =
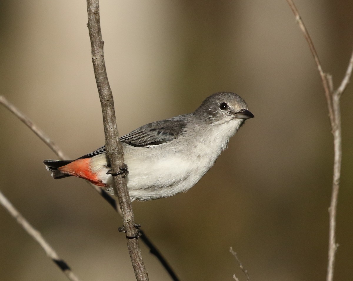
[{"label": "pale branch section sloping from left edge down to bird's tail", "polygon": [[10,110],[18,119],[20,119],[28,128],[30,128],[54,153],[61,159],[68,159],[64,152],[50,138],[38,128],[26,115],[24,115],[16,106],[8,101],[5,96],[0,95],[0,103]]}]

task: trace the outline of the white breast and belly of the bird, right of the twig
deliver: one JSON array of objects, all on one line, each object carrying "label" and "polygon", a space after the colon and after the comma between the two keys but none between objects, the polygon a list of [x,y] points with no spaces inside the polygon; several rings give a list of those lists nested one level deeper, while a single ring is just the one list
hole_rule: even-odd
[{"label": "white breast and belly of the bird, right of the twig", "polygon": [[[132,200],[150,200],[185,192],[213,166],[241,119],[210,125],[154,147],[124,145],[127,186]],[[104,176],[104,175],[102,175]]]}]

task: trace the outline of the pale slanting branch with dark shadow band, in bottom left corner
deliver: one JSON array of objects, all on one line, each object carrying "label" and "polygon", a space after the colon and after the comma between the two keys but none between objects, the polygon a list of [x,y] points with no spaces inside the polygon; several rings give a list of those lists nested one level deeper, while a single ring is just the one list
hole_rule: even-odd
[{"label": "pale slanting branch with dark shadow band, in bottom left corner", "polygon": [[22,226],[22,228],[38,242],[38,244],[43,248],[44,252],[53,262],[58,265],[58,267],[64,272],[67,278],[71,281],[79,281],[78,277],[72,272],[70,267],[62,260],[58,254],[54,251],[52,246],[43,238],[40,232],[36,230],[31,224],[15,209],[15,207],[7,200],[4,194],[0,192],[0,204],[4,206],[6,211],[13,216],[17,222]]}]

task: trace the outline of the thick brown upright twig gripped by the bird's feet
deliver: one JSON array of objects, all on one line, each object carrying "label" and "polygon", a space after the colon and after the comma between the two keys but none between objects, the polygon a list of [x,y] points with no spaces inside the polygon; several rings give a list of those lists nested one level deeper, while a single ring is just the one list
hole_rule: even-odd
[{"label": "thick brown upright twig gripped by the bird's feet", "polygon": [[[112,166],[112,173],[118,174],[120,168],[124,165],[124,159],[122,145],[118,138],[118,128],[116,127],[113,94],[109,86],[104,62],[104,42],[102,40],[100,27],[98,0],[87,0],[87,13],[88,30],[91,40],[92,63],[103,113],[107,157]],[[119,203],[124,222],[124,229],[126,231],[127,246],[136,279],[148,280],[147,271],[138,245],[137,229],[134,226],[134,216],[125,179],[121,175],[114,176],[113,178],[115,188],[117,189],[114,192],[119,194]]]}]

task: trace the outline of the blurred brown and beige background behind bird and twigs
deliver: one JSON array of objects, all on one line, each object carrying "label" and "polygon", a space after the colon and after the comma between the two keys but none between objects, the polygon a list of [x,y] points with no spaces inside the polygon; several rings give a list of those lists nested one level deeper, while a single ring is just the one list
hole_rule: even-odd
[{"label": "blurred brown and beige background behind bird and twigs", "polygon": [[[335,88],[353,44],[353,2],[295,1]],[[119,133],[238,93],[255,115],[189,192],[134,202],[136,222],[183,281],[325,280],[333,137],[321,79],[286,1],[104,1],[101,25]],[[104,144],[85,1],[0,2],[0,94],[72,159]],[[353,86],[341,98],[335,280],[353,280]],[[135,280],[121,218],[0,107],[0,188],[82,281]],[[66,280],[0,207],[1,280]],[[140,242],[150,280],[170,280]]]}]

